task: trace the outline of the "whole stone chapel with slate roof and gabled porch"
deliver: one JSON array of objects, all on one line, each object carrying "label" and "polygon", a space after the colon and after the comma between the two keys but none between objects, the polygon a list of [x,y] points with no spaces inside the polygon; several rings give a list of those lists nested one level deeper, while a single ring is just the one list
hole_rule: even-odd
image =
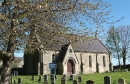
[{"label": "whole stone chapel with slate roof and gabled porch", "polygon": [[[46,46],[47,47],[47,46]],[[50,74],[49,64],[57,65],[56,74],[90,74],[112,71],[111,52],[96,37],[58,44],[46,51],[24,55],[25,74]]]}]

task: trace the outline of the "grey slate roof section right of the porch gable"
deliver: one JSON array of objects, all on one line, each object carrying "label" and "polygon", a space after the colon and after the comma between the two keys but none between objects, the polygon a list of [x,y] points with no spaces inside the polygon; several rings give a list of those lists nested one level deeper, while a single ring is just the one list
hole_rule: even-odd
[{"label": "grey slate roof section right of the porch gable", "polygon": [[72,46],[74,51],[79,52],[110,53],[110,51],[98,38],[87,39],[83,42],[75,42],[74,44],[72,44]]}]

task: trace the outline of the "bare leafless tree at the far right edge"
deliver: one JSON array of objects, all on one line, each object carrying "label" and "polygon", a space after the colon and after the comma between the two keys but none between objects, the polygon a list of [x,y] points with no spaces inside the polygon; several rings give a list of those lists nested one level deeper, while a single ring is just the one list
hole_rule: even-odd
[{"label": "bare leafless tree at the far right edge", "polygon": [[120,35],[120,46],[121,46],[121,56],[123,59],[123,68],[126,68],[126,60],[129,57],[130,49],[130,26],[119,26],[119,35]]}]

